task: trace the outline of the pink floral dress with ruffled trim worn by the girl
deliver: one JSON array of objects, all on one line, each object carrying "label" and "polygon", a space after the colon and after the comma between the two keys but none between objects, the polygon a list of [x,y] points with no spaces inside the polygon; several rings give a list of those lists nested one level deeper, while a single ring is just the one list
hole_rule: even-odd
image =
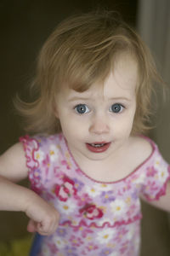
[{"label": "pink floral dress with ruffled trim worn by the girl", "polygon": [[139,195],[158,200],[165,194],[170,167],[156,146],[130,175],[97,182],[77,166],[62,134],[22,137],[31,189],[54,205],[59,227],[36,236],[35,256],[137,256],[142,218]]}]

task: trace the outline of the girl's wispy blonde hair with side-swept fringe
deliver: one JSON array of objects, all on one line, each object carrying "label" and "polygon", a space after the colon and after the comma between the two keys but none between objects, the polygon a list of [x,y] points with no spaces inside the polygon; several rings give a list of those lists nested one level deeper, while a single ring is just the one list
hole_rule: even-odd
[{"label": "girl's wispy blonde hair with side-swept fringe", "polygon": [[149,128],[150,96],[153,82],[161,80],[150,51],[139,35],[115,12],[99,11],[64,20],[49,36],[40,51],[32,88],[34,102],[15,101],[26,117],[26,131],[50,134],[60,131],[54,116],[55,96],[63,86],[82,92],[97,80],[104,80],[116,56],[128,52],[138,63],[139,84],[133,132]]}]

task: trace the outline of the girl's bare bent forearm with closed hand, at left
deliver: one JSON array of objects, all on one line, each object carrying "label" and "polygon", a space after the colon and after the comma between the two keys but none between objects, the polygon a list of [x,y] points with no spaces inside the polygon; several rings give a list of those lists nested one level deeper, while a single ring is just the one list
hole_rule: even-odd
[{"label": "girl's bare bent forearm with closed hand, at left", "polygon": [[59,213],[40,196],[0,177],[0,210],[21,211],[31,218],[27,230],[51,235],[58,226]]}]

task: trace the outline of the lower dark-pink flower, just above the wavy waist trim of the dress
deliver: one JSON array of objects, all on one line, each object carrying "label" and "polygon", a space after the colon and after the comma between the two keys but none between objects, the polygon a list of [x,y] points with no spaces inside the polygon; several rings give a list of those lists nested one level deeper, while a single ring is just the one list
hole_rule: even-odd
[{"label": "lower dark-pink flower, just above the wavy waist trim of the dress", "polygon": [[87,204],[79,210],[79,212],[88,219],[102,218],[103,212],[95,205]]}]

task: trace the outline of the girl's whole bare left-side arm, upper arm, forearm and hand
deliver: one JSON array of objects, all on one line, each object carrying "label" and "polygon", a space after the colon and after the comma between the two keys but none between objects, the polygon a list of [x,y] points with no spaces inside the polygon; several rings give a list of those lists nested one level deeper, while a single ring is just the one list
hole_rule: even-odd
[{"label": "girl's whole bare left-side arm, upper arm, forearm and hand", "polygon": [[59,213],[36,193],[14,183],[26,177],[25,153],[17,143],[0,157],[0,210],[26,212],[31,218],[28,231],[50,235],[58,226]]}]

